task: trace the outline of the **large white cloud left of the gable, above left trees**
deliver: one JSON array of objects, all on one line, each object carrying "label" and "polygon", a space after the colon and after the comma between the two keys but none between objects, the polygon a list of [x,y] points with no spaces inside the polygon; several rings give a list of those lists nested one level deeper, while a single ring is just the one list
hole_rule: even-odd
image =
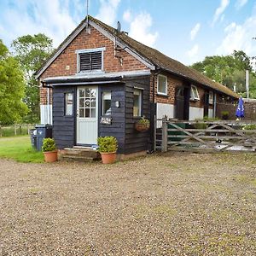
[{"label": "large white cloud left of the gable, above left trees", "polygon": [[[10,3],[10,2],[9,2]],[[20,36],[45,33],[58,46],[77,26],[68,11],[72,0],[16,1],[0,17],[0,38],[9,46]]]}]

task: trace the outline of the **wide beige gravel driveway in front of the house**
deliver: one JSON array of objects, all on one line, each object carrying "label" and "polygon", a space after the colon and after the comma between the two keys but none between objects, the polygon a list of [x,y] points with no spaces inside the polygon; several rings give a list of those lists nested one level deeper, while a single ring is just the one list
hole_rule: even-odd
[{"label": "wide beige gravel driveway in front of the house", "polygon": [[0,255],[255,255],[255,154],[0,163]]}]

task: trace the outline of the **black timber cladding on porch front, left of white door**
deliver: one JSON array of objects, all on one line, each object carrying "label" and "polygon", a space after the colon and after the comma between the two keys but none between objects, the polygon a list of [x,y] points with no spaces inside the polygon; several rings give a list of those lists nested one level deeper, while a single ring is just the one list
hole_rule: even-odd
[{"label": "black timber cladding on porch front, left of white door", "polygon": [[[73,115],[65,116],[65,93],[73,93]],[[55,86],[53,88],[53,137],[57,148],[74,146],[76,88],[74,86]]]}]

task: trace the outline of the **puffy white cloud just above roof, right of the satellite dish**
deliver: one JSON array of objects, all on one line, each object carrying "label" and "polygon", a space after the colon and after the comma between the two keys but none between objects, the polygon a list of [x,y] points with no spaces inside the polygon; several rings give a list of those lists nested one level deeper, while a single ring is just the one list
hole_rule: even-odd
[{"label": "puffy white cloud just above roof, right of the satellite dish", "polygon": [[150,32],[152,17],[146,12],[142,12],[131,20],[129,36],[148,46],[154,46],[158,37],[158,32]]}]

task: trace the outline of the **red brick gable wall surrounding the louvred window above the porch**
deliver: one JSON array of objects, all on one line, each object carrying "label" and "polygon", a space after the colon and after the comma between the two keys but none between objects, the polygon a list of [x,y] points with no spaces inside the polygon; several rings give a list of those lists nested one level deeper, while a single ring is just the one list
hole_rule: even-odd
[{"label": "red brick gable wall surrounding the louvred window above the porch", "polygon": [[[118,55],[122,58],[121,64],[119,58],[114,56],[113,42],[98,32],[95,28],[91,27],[90,34],[83,30],[79,35],[73,39],[73,42],[63,50],[55,61],[44,71],[40,80],[56,77],[56,76],[68,76],[77,73],[77,55],[75,51],[77,49],[94,49],[105,47],[103,57],[104,71],[110,72],[122,72],[122,71],[137,71],[148,69],[141,61],[138,61],[135,57],[128,54],[125,50],[121,50]],[[67,70],[67,66],[69,69]],[[45,89],[40,90],[41,104],[46,102]]]}]

